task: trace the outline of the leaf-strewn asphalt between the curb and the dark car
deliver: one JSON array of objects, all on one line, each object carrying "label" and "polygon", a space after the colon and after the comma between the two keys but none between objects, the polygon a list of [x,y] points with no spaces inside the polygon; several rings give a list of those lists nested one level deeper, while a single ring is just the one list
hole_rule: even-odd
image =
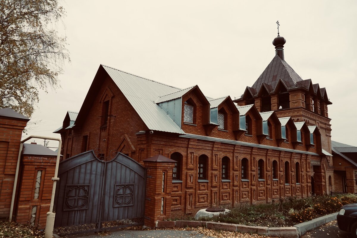
[{"label": "leaf-strewn asphalt between the curb and the dark car", "polygon": [[332,221],[305,233],[301,238],[352,238],[352,236],[338,229],[337,221]]}]

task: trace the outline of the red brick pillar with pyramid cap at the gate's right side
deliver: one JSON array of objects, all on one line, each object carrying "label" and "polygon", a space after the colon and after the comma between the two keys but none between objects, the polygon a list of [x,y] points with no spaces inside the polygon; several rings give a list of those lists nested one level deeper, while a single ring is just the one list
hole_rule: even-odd
[{"label": "red brick pillar with pyramid cap at the gate's right side", "polygon": [[175,160],[162,155],[143,160],[146,167],[145,226],[155,227],[171,214],[172,169]]}]

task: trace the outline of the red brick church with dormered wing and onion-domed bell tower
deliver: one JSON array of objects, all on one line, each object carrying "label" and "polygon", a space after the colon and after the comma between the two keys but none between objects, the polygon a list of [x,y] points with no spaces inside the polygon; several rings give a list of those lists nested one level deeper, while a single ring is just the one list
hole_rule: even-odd
[{"label": "red brick church with dormered wing and onion-domed bell tower", "polygon": [[145,166],[151,221],[335,191],[332,103],[285,61],[285,42],[273,40],[272,61],[235,100],[100,65],[79,113],[55,131],[61,154],[94,150],[109,161],[121,152]]}]

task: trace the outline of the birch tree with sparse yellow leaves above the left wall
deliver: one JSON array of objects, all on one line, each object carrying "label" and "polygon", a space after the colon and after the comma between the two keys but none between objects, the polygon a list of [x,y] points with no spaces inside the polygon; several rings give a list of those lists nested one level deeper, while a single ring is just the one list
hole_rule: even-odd
[{"label": "birch tree with sparse yellow leaves above the left wall", "polygon": [[59,87],[69,55],[48,26],[64,13],[57,0],[0,0],[0,108],[31,117],[39,90]]}]

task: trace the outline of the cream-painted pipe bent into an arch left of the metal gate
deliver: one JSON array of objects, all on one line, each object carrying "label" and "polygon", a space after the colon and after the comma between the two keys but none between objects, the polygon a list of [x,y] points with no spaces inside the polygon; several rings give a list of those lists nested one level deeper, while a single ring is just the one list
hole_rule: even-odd
[{"label": "cream-painted pipe bent into an arch left of the metal gate", "polygon": [[27,137],[26,139],[21,140],[20,150],[19,150],[19,157],[17,157],[17,165],[16,165],[15,180],[14,180],[14,188],[12,189],[12,198],[11,198],[9,221],[11,222],[12,212],[14,211],[15,193],[16,193],[16,186],[17,186],[17,178],[19,177],[22,147],[23,147],[23,145],[24,145],[24,142],[27,141],[27,140],[30,140],[31,138],[39,138],[39,139],[57,140],[57,141],[59,141],[58,150],[57,150],[57,160],[56,160],[55,176],[52,178],[52,180],[53,180],[53,187],[52,187],[52,196],[51,196],[51,203],[50,203],[50,211],[47,212],[46,228],[45,228],[45,238],[52,238],[53,228],[54,228],[54,224],[55,224],[55,215],[56,215],[56,213],[53,212],[53,204],[54,204],[54,201],[55,201],[56,183],[57,183],[57,181],[59,180],[59,178],[57,177],[57,175],[58,175],[58,166],[59,166],[59,164],[60,164],[60,155],[61,155],[61,146],[62,146],[62,140],[61,140],[60,138],[31,135],[31,136]]}]

